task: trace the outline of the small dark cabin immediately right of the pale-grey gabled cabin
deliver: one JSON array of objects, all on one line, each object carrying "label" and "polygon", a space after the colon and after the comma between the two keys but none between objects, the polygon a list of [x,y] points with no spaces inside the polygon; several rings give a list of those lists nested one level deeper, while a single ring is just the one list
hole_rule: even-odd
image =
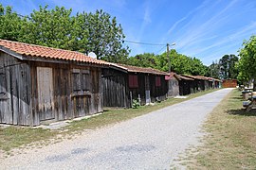
[{"label": "small dark cabin immediately right of the pale-grey gabled cabin", "polygon": [[187,95],[192,93],[192,89],[194,86],[194,79],[188,76],[179,75],[179,94]]}]

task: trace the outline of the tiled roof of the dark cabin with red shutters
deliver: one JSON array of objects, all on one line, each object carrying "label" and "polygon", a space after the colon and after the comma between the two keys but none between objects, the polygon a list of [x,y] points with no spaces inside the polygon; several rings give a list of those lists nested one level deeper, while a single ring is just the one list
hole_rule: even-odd
[{"label": "tiled roof of the dark cabin with red shutters", "polygon": [[112,63],[112,65],[117,66],[123,70],[126,70],[127,72],[146,73],[146,74],[164,75],[164,76],[169,75],[166,72],[162,72],[153,68],[137,67],[137,66],[118,64],[118,63]]}]

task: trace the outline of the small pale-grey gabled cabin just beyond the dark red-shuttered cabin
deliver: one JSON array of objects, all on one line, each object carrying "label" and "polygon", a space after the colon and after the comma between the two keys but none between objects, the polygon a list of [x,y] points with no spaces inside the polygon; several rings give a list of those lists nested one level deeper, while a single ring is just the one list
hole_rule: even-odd
[{"label": "small pale-grey gabled cabin just beyond the dark red-shuttered cabin", "polygon": [[172,72],[168,76],[165,76],[165,80],[168,80],[168,96],[179,95],[178,81],[181,80],[179,76]]}]

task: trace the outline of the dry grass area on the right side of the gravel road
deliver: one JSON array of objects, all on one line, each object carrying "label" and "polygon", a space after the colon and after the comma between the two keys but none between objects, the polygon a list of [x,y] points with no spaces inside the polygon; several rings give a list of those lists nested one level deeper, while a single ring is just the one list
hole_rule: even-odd
[{"label": "dry grass area on the right side of the gravel road", "polygon": [[232,91],[212,111],[203,144],[180,161],[189,169],[256,169],[256,110],[246,112],[240,94]]}]

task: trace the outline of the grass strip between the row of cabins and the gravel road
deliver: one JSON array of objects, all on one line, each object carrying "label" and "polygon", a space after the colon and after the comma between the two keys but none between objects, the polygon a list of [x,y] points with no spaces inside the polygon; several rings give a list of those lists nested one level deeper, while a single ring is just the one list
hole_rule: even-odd
[{"label": "grass strip between the row of cabins and the gravel road", "polygon": [[[31,127],[0,127],[0,151],[9,152],[13,148],[27,146],[27,144],[48,144],[55,140],[60,141],[60,138],[67,137],[68,139],[77,133],[84,131],[84,129],[94,129],[119,123],[154,110],[159,110],[176,103],[192,99],[194,97],[211,93],[216,90],[209,90],[200,93],[192,93],[185,99],[170,98],[155,106],[141,106],[138,109],[112,109],[105,110],[101,115],[91,117],[89,119],[82,119],[81,121],[73,121],[69,126],[59,130],[48,130],[43,128]],[[57,140],[56,140],[57,139]]]}]

